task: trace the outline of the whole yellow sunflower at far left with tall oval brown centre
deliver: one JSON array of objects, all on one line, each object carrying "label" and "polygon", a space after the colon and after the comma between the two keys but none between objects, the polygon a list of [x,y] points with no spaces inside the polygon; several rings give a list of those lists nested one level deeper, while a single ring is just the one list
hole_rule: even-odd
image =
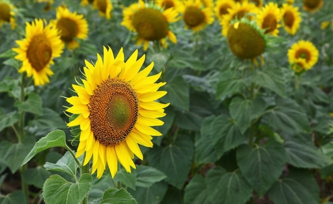
[{"label": "whole yellow sunflower at far left with tall oval brown centre", "polygon": [[51,24],[44,27],[43,20],[35,19],[31,24],[26,22],[26,38],[16,43],[19,47],[13,48],[17,53],[15,59],[22,61],[18,72],[32,76],[35,86],[49,83],[49,76],[53,75],[50,64],[60,57],[64,47],[59,31]]}]

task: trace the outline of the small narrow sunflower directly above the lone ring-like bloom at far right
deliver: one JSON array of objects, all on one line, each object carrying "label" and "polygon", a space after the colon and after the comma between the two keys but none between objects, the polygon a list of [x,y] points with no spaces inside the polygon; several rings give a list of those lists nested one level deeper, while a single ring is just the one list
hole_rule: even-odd
[{"label": "small narrow sunflower directly above the lone ring-like bloom at far right", "polygon": [[281,17],[284,30],[290,35],[295,35],[302,21],[298,7],[289,4],[283,4],[281,8]]}]

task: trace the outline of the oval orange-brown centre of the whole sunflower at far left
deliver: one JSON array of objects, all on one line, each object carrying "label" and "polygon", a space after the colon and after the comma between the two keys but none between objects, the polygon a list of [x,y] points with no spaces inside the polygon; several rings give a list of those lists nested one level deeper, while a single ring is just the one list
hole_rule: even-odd
[{"label": "oval orange-brown centre of the whole sunflower at far left", "polygon": [[27,49],[27,58],[32,68],[37,72],[44,69],[51,57],[51,42],[42,34],[34,36]]}]

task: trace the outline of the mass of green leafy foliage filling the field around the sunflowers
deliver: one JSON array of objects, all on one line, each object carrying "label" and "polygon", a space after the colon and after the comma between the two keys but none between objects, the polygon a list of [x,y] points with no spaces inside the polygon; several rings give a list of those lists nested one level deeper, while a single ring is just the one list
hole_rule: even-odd
[{"label": "mass of green leafy foliage filling the field around the sunflowers", "polygon": [[[144,160],[135,159],[137,167],[132,173],[120,169],[113,180],[108,171],[100,180],[79,175],[80,166],[71,155],[77,143],[68,142],[78,129],[71,133],[66,128],[63,106],[68,104],[60,96],[72,94],[68,87],[75,77],[81,77],[84,59],[96,61],[102,46],[109,45],[115,52],[124,47],[126,57],[137,48],[144,53],[120,25],[122,9],[131,2],[112,1],[110,20],[79,3],[66,1],[69,8],[84,14],[89,37],[55,60],[50,84],[28,86],[24,95],[17,73],[20,64],[10,48],[16,46],[14,40],[22,38],[25,21],[54,18],[54,8],[61,1],[55,1],[48,12],[43,11],[44,3],[15,2],[20,11],[17,29],[13,32],[9,25],[0,29],[2,186],[15,189],[21,164],[30,160],[21,182],[30,186],[32,203],[43,198],[47,203],[55,199],[77,203],[87,193],[91,203],[246,203],[261,199],[330,203],[333,35],[331,28],[319,28],[320,22],[332,18],[329,8],[333,2],[325,1],[324,8],[314,14],[302,11],[296,36],[281,29],[260,67],[232,55],[218,22],[199,33],[184,30],[182,21],[174,23],[171,29],[178,43],[162,50],[152,46],[145,62],[154,61],[154,72],[162,70],[160,80],[167,82],[163,89],[168,94],[161,102],[171,105],[165,109],[164,125],[156,127],[163,136],[153,139],[153,148],[141,148]],[[295,4],[301,7],[302,2]],[[317,65],[301,76],[289,68],[287,59],[288,48],[299,39],[311,40],[320,50]],[[13,135],[22,112],[26,113],[26,138],[16,140]],[[64,150],[68,151],[64,154]],[[49,188],[42,192],[43,185]],[[1,202],[25,202],[22,191],[1,190]]]}]

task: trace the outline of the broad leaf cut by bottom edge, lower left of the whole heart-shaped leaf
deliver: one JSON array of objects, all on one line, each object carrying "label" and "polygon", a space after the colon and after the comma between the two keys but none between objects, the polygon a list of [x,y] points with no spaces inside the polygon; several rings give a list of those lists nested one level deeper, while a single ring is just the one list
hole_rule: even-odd
[{"label": "broad leaf cut by bottom edge, lower left of the whole heart-shaped leaf", "polygon": [[227,172],[221,167],[208,171],[206,184],[211,203],[243,204],[253,191],[240,171]]}]

